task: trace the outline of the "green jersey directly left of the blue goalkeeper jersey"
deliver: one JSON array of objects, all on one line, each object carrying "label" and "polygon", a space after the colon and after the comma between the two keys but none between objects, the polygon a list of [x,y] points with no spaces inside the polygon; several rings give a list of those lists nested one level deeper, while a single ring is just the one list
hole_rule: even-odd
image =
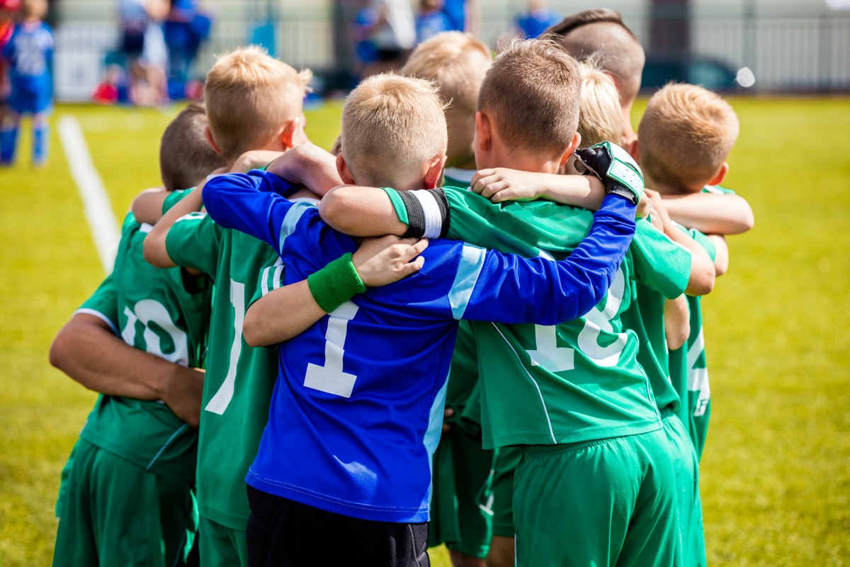
[{"label": "green jersey directly left of the blue goalkeeper jersey", "polygon": [[174,223],[166,248],[175,264],[199,269],[215,283],[198,440],[198,508],[218,524],[244,530],[250,514],[245,475],[269,420],[278,364],[275,351],[247,345],[242,322],[258,275],[278,255],[203,213]]}]

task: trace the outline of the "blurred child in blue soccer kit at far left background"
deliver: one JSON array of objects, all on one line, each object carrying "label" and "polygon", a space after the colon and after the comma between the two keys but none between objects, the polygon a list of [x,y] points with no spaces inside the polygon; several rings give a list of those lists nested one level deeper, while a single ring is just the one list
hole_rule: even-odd
[{"label": "blurred child in blue soccer kit at far left background", "polygon": [[24,19],[14,27],[3,47],[9,61],[12,94],[9,112],[0,126],[0,166],[14,162],[20,116],[32,116],[32,164],[42,166],[48,158],[48,114],[53,105],[53,49],[50,26],[42,21],[48,11],[46,0],[25,0]]}]

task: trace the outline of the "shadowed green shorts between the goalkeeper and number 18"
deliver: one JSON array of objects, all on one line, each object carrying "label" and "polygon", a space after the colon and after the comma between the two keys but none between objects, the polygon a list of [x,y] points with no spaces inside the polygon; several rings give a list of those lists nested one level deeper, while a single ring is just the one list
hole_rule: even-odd
[{"label": "shadowed green shorts between the goalkeeper and number 18", "polygon": [[487,557],[493,536],[494,452],[457,427],[439,439],[433,454],[428,547],[445,543],[457,552]]}]

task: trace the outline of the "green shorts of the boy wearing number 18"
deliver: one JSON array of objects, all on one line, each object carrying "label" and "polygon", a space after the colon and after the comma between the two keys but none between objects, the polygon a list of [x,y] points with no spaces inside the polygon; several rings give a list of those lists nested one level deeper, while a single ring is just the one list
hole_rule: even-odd
[{"label": "green shorts of the boy wearing number 18", "polygon": [[660,429],[524,447],[513,494],[517,565],[681,564],[671,452]]}]

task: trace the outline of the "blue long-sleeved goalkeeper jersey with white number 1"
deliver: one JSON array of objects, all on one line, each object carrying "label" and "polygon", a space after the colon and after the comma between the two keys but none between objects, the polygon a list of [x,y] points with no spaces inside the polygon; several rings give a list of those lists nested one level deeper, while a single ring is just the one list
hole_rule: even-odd
[{"label": "blue long-sleeved goalkeeper jersey with white number 1", "polygon": [[[209,215],[268,242],[301,281],[357,243],[315,207],[275,194],[275,175],[211,179]],[[590,234],[561,262],[459,241],[432,241],[424,267],[371,288],[280,347],[269,424],[246,482],[332,513],[428,519],[457,320],[554,325],[604,297],[634,231],[634,208],[609,196]]]}]

